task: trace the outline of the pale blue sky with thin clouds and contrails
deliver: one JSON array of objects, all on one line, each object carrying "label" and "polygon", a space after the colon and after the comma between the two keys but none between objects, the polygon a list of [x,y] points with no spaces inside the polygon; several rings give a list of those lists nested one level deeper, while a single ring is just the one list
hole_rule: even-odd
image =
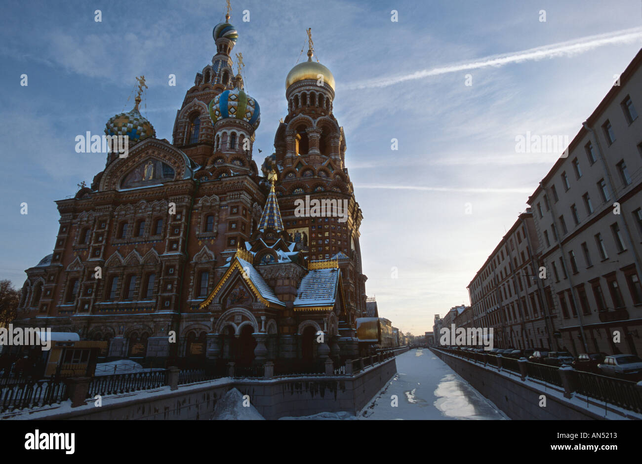
[{"label": "pale blue sky with thin clouds and contrails", "polygon": [[[55,200],[104,168],[104,154],[76,153],[76,135],[101,135],[130,110],[144,74],[141,112],[171,141],[225,2],[3,3],[0,279],[20,288],[53,250]],[[232,0],[234,53],[261,105],[254,159],[273,151],[285,78],[312,28],[336,81],[367,294],[379,316],[423,334],[435,314],[469,304],[466,286],[561,154],[519,153],[517,138],[572,140],[638,53],[641,20],[639,0]]]}]

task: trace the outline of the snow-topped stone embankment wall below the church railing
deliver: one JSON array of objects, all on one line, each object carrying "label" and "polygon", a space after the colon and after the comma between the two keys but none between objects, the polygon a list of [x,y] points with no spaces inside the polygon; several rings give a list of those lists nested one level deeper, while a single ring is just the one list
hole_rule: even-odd
[{"label": "snow-topped stone embankment wall below the church railing", "polygon": [[3,418],[54,420],[207,420],[218,399],[236,388],[266,419],[306,416],[322,412],[346,411],[356,414],[397,372],[395,358],[348,376],[286,377],[269,380],[217,379],[152,391],[106,396],[101,406],[94,400],[86,406],[71,408],[71,401],[42,411],[30,410]]}]

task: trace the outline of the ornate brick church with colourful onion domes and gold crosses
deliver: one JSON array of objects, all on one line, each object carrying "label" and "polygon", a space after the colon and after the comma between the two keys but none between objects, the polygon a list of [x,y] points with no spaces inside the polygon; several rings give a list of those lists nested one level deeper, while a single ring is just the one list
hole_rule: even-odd
[{"label": "ornate brick church with colourful onion domes and gold crosses", "polygon": [[[14,325],[107,341],[101,359],[146,366],[356,357],[362,215],[334,76],[313,60],[308,36],[308,60],[284,73],[288,113],[260,173],[261,108],[245,91],[241,56],[232,69],[229,11],[171,142],[141,115],[139,78],[134,108],[105,126],[128,137],[126,157],[110,151],[91,186],[56,202],[55,248],[26,270]],[[347,211],[301,216],[306,197]]]}]

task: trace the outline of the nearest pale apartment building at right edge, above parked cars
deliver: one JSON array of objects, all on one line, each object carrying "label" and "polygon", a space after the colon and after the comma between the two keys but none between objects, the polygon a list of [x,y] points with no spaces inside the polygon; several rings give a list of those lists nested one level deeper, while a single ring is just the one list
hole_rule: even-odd
[{"label": "nearest pale apartment building at right edge, above parked cars", "polygon": [[641,64],[642,51],[528,198],[548,302],[573,354],[642,354]]}]

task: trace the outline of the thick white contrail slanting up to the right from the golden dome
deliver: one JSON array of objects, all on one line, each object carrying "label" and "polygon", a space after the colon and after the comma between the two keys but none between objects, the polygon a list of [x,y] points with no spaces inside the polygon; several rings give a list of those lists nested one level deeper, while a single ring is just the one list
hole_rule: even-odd
[{"label": "thick white contrail slanting up to the right from the golden dome", "polygon": [[590,35],[581,39],[569,40],[567,42],[558,42],[541,47],[530,48],[523,51],[504,53],[502,55],[490,55],[472,62],[462,62],[423,69],[412,74],[403,76],[392,76],[385,78],[371,79],[361,82],[348,84],[346,89],[376,89],[377,87],[388,87],[401,82],[426,78],[429,76],[438,76],[439,74],[456,73],[458,71],[467,71],[469,69],[479,69],[482,67],[501,67],[509,63],[519,63],[523,61],[542,60],[543,58],[556,58],[559,56],[571,56],[611,44],[629,44],[636,40],[642,39],[642,28],[631,28],[621,31],[609,32],[599,35]]}]

